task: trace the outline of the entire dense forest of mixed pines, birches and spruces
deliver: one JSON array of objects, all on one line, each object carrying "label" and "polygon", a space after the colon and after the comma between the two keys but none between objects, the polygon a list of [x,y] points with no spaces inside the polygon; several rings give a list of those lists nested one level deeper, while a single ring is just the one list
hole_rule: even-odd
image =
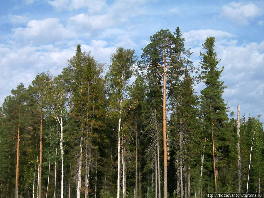
[{"label": "entire dense forest of mixed pines, birches and spruces", "polygon": [[194,65],[183,36],[160,30],[141,58],[118,47],[109,65],[78,44],[60,75],[12,89],[0,107],[0,198],[263,193],[261,115],[229,111],[214,37]]}]

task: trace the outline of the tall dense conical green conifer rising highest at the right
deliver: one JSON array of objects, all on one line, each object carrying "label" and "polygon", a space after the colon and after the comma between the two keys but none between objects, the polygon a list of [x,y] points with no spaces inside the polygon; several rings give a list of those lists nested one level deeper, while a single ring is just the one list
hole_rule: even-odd
[{"label": "tall dense conical green conifer rising highest at the right", "polygon": [[[224,135],[224,123],[228,120],[226,115],[227,108],[224,99],[222,99],[222,93],[226,86],[223,85],[224,82],[219,81],[224,67],[222,67],[221,70],[217,68],[220,60],[217,59],[216,53],[214,52],[214,37],[207,38],[202,46],[205,52],[200,52],[202,60],[200,78],[205,83],[206,87],[201,91],[201,111],[204,131],[206,133],[205,137],[207,137],[207,139],[210,136],[208,132],[211,132],[215,191],[217,191],[216,178],[218,173],[216,172],[215,151],[222,146],[221,141],[227,138]],[[216,141],[218,142],[215,145]]]}]

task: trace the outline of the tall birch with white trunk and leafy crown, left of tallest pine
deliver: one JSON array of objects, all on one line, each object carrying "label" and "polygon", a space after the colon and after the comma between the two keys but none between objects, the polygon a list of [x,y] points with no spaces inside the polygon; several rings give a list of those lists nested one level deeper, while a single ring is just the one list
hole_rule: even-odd
[{"label": "tall birch with white trunk and leafy crown, left of tallest pine", "polygon": [[[112,109],[118,109],[118,167],[117,167],[117,198],[120,197],[120,146],[121,146],[121,119],[122,102],[125,98],[126,86],[133,75],[133,67],[136,63],[135,51],[119,47],[111,56],[111,65],[106,79],[109,83],[109,99],[113,101]],[[118,104],[116,104],[118,102]],[[124,185],[124,183],[123,183]],[[125,195],[123,195],[125,196]]]}]

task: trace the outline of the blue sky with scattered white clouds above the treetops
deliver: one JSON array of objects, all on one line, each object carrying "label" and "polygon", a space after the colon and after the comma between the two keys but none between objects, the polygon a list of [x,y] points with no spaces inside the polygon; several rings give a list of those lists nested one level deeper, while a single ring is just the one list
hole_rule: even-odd
[{"label": "blue sky with scattered white clouds above the treetops", "polygon": [[[150,36],[180,27],[185,48],[199,66],[207,37],[224,67],[220,80],[229,111],[264,122],[264,1],[211,0],[7,0],[0,2],[0,104],[38,73],[68,66],[77,44],[101,63],[117,47],[140,58]],[[195,86],[200,94],[203,83]],[[229,112],[229,113],[230,113]]]}]

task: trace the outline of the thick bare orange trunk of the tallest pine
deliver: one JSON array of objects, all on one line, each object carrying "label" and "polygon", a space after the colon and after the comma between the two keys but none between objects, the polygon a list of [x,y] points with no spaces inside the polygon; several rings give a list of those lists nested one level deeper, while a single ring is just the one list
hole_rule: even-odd
[{"label": "thick bare orange trunk of the tallest pine", "polygon": [[163,155],[164,155],[164,198],[168,197],[167,189],[167,132],[166,132],[166,58],[163,65]]}]

